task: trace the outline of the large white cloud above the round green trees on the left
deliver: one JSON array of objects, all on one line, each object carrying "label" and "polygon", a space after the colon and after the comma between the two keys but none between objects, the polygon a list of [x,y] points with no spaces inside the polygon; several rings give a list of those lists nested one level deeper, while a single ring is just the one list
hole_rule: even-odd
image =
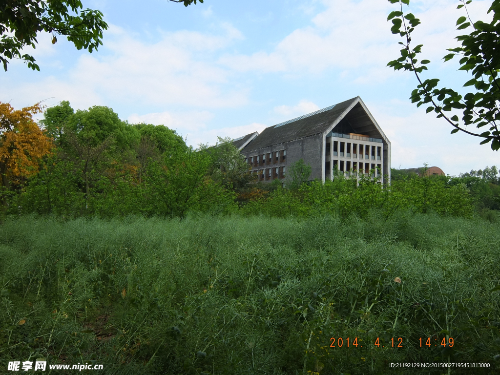
[{"label": "large white cloud above the round green trees on the left", "polygon": [[57,77],[22,84],[11,81],[10,87],[3,88],[27,102],[55,97],[79,108],[110,102],[156,107],[239,106],[246,103],[248,90],[233,88],[229,72],[213,63],[211,54],[242,35],[228,23],[220,28],[220,35],[184,30],[163,33],[158,42],[148,43],[110,25],[99,53],[81,54],[74,66]]}]

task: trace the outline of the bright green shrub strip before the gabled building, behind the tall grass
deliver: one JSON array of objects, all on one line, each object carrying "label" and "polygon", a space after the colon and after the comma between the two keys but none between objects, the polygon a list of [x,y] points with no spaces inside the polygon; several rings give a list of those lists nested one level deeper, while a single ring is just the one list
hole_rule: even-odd
[{"label": "bright green shrub strip before the gabled building, behind the tall grass", "polygon": [[466,186],[435,177],[438,176],[402,178],[383,187],[378,177],[362,175],[358,179],[334,170],[332,181],[302,183],[298,190],[278,187],[262,199],[246,204],[243,212],[272,217],[337,214],[346,219],[352,214],[364,218],[377,209],[387,219],[398,209],[408,209],[415,213],[433,211],[444,216],[471,217],[474,199]]}]

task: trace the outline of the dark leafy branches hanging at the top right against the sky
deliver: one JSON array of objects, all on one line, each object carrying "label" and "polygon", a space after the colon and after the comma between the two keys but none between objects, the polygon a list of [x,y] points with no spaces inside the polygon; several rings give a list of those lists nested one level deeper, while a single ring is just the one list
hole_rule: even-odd
[{"label": "dark leafy branches hanging at the top right against the sky", "polygon": [[[403,14],[403,4],[409,5],[409,0],[388,0],[390,3],[399,3],[400,10],[390,12],[387,20],[392,21],[391,31],[404,38],[400,50],[401,56],[389,61],[388,66],[395,70],[404,69],[412,71],[418,80],[417,87],[411,92],[411,102],[417,107],[429,104],[426,112],[434,111],[437,117],[444,118],[454,127],[451,133],[462,131],[466,134],[482,138],[480,144],[491,143],[491,149],[500,148],[500,0],[493,0],[488,13],[493,13],[491,22],[481,20],[473,22],[467,11],[467,4],[471,0],[460,0],[458,9],[463,8],[465,15],[456,21],[458,30],[470,28],[468,35],[456,37],[461,46],[448,48],[448,53],[443,57],[444,61],[461,55],[459,70],[469,72],[472,77],[463,84],[463,87],[473,87],[473,90],[465,95],[460,95],[451,88],[437,88],[439,79],[431,78],[422,80],[421,73],[427,70],[425,66],[430,61],[422,59],[418,61],[416,55],[421,53],[422,44],[414,47],[411,43],[411,33],[420,23],[413,14]],[[453,110],[462,112],[461,120],[458,116],[450,113]],[[467,125],[475,125],[477,129],[487,126],[488,130],[470,131]],[[482,129],[484,130],[484,129]]]}]

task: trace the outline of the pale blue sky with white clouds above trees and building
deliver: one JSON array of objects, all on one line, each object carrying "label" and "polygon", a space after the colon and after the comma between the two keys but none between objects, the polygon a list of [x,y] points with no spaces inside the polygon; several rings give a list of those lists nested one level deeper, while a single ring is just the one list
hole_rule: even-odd
[{"label": "pale blue sky with white clouds above trees and building", "polygon": [[[393,168],[439,166],[458,175],[500,165],[480,138],[451,127],[408,99],[410,72],[387,62],[399,56],[387,0],[205,0],[184,7],[167,0],[82,0],[109,28],[88,53],[62,36],[40,34],[32,54],[40,71],[12,61],[0,71],[0,101],[14,108],[68,100],[74,109],[111,107],[122,120],[164,124],[193,146],[237,138],[360,96],[391,142]],[[458,92],[469,78],[453,59],[457,0],[410,1],[422,22],[413,41],[431,60],[423,78]],[[468,5],[488,20],[489,1]]]}]

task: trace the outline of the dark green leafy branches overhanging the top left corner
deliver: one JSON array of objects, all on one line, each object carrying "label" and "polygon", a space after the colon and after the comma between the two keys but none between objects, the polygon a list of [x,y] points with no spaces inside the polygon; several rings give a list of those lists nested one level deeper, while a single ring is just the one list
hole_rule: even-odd
[{"label": "dark green leafy branches overhanging the top left corner", "polygon": [[[196,0],[169,1],[182,2],[185,6],[196,4]],[[26,46],[35,47],[41,31],[51,34],[52,44],[57,42],[57,35],[63,35],[77,49],[97,50],[99,44],[102,45],[102,31],[107,29],[107,23],[99,10],[82,8],[80,0],[0,1],[0,62],[5,71],[12,58],[24,60],[31,69],[40,70],[33,56],[21,53]]]}]

